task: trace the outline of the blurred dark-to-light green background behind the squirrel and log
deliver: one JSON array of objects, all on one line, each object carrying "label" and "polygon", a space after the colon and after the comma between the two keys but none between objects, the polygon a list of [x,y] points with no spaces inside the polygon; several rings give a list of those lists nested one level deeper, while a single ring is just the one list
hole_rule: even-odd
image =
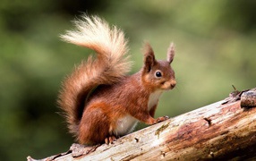
[{"label": "blurred dark-to-light green background behind the squirrel and log", "polygon": [[81,13],[117,25],[142,65],[147,40],[158,59],[175,42],[177,87],[157,115],[206,106],[237,89],[256,87],[256,1],[24,0],[0,3],[0,160],[44,158],[73,143],[56,105],[65,75],[91,51],[60,40]]}]

